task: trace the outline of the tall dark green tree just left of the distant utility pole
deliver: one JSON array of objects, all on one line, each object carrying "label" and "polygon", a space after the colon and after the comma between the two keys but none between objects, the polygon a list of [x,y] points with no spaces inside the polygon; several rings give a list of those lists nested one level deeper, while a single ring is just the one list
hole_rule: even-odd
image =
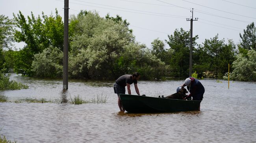
[{"label": "tall dark green tree just left of the distant utility pole", "polygon": [[[189,75],[189,47],[190,47],[190,32],[184,31],[180,28],[180,31],[176,29],[173,35],[168,35],[169,40],[165,40],[170,46],[170,68],[171,75],[175,77],[184,77]],[[197,44],[198,36],[192,38],[193,47]]]}]

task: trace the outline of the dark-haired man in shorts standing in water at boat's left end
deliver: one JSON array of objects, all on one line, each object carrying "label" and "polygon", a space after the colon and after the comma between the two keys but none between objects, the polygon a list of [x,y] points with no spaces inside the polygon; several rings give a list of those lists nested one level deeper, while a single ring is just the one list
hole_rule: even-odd
[{"label": "dark-haired man in shorts standing in water at boat's left end", "polygon": [[127,86],[127,91],[128,91],[128,94],[131,94],[131,89],[130,89],[130,85],[132,83],[134,83],[134,87],[135,87],[135,91],[138,95],[139,94],[139,89],[138,89],[138,86],[137,86],[137,81],[139,80],[140,78],[140,74],[138,72],[135,72],[134,74],[130,75],[130,74],[124,74],[122,76],[120,76],[116,81],[115,81],[115,84],[114,84],[114,91],[115,93],[117,94],[118,96],[118,106],[119,106],[119,109],[120,111],[124,112],[125,109],[122,107],[122,103],[121,103],[121,100],[120,100],[120,96],[119,94],[125,94],[125,87]]}]

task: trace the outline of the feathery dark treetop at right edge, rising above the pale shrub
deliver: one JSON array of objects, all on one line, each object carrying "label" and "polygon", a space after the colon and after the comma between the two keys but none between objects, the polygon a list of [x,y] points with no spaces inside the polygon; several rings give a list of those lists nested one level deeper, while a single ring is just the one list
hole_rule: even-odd
[{"label": "feathery dark treetop at right edge, rising above the pale shrub", "polygon": [[247,25],[247,29],[243,29],[243,36],[241,33],[239,33],[241,38],[241,48],[251,50],[256,50],[256,27],[254,25],[254,22]]}]

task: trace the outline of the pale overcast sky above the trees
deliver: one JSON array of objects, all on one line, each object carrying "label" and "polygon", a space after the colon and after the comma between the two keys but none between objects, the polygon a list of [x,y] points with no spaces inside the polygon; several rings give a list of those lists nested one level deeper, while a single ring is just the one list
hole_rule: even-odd
[{"label": "pale overcast sky above the trees", "polygon": [[[64,0],[0,0],[0,14],[13,18],[13,13],[19,10],[30,16],[55,13],[55,8],[63,17]],[[256,0],[69,0],[69,15],[78,14],[80,10],[96,10],[100,16],[107,13],[117,14],[126,19],[133,29],[138,42],[151,48],[151,42],[160,38],[167,40],[168,34],[175,29],[190,30],[192,8],[193,36],[198,35],[196,41],[202,44],[219,34],[219,39],[232,39],[239,43],[239,33],[252,22],[256,23]],[[16,44],[17,48],[22,44]],[[169,46],[165,43],[165,48]]]}]

